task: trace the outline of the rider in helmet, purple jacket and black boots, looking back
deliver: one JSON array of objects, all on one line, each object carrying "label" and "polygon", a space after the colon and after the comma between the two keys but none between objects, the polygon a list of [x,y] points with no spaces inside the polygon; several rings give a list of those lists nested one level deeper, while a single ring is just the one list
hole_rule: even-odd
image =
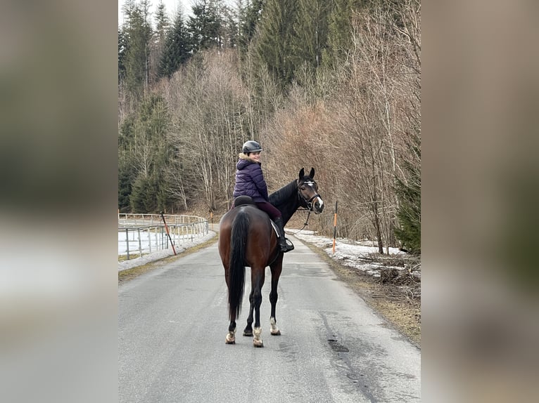
[{"label": "rider in helmet, purple jacket and black boots, looking back", "polygon": [[262,147],[254,140],[249,140],[243,144],[242,152],[239,154],[239,161],[236,164],[234,198],[250,196],[256,206],[272,218],[277,228],[279,228],[279,247],[281,252],[286,253],[294,249],[294,246],[284,237],[281,211],[269,202],[267,185],[260,164],[260,152],[262,152]]}]

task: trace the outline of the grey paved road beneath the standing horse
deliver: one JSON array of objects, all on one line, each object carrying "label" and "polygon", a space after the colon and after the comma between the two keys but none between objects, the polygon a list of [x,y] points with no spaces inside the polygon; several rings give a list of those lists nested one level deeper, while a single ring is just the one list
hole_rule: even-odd
[{"label": "grey paved road beneath the standing horse", "polygon": [[[270,269],[262,290],[264,348],[225,345],[227,287],[217,244],[122,284],[120,402],[419,402],[420,352],[294,239],[270,335]],[[246,297],[251,290],[247,277]]]}]

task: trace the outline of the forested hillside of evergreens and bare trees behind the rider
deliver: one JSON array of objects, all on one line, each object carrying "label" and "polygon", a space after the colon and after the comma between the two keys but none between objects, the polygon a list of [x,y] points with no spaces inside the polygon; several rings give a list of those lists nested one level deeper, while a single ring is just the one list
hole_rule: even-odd
[{"label": "forested hillside of evergreens and bare trees behind the rider", "polygon": [[421,253],[419,0],[127,0],[118,209],[224,213],[241,145],[271,192],[315,168],[309,229]]}]

